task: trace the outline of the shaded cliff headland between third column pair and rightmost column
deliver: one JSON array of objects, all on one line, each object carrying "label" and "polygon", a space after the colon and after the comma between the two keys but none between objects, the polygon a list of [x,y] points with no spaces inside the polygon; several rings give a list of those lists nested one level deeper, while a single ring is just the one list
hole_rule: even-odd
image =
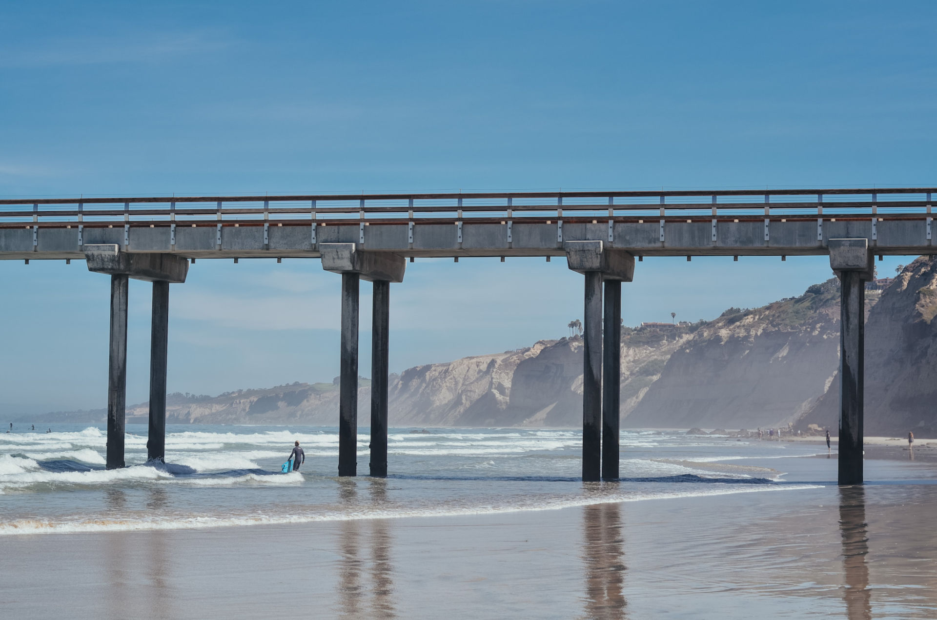
[{"label": "shaded cliff headland between third column pair and rightmost column", "polygon": [[836,278],[699,328],[623,421],[630,427],[787,425],[829,387],[839,363]]}]

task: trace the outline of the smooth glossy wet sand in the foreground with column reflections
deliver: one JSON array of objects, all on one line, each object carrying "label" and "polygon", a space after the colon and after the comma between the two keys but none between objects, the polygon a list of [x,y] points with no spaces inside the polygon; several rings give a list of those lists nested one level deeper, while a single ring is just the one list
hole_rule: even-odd
[{"label": "smooth glossy wet sand in the foreground with column reflections", "polygon": [[[381,488],[360,479],[353,493]],[[932,618],[935,509],[937,484],[907,480],[499,515],[7,537],[0,617]]]}]

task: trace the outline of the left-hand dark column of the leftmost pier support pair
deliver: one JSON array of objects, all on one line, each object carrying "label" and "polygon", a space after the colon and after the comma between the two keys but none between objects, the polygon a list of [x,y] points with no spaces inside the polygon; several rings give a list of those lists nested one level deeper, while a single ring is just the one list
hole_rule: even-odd
[{"label": "left-hand dark column of the leftmost pier support pair", "polygon": [[129,280],[111,276],[111,347],[108,360],[107,468],[124,466],[126,424],[126,298]]}]

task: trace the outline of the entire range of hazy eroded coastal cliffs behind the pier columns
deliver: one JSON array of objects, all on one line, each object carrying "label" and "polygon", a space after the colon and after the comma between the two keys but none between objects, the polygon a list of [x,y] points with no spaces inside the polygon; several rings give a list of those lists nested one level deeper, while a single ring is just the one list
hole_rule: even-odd
[{"label": "entire range of hazy eroded coastal cliffs behind the pier columns", "polygon": [[[937,435],[937,262],[919,258],[880,292],[867,291],[866,432]],[[839,281],[698,323],[622,330],[624,427],[837,427]],[[396,426],[576,427],[582,339],[424,364],[390,377]],[[369,422],[369,381],[359,421]],[[171,394],[171,423],[335,425],[338,386],[293,383],[218,396]],[[147,405],[129,406],[142,422]],[[32,422],[103,422],[105,412],[58,412]]]}]

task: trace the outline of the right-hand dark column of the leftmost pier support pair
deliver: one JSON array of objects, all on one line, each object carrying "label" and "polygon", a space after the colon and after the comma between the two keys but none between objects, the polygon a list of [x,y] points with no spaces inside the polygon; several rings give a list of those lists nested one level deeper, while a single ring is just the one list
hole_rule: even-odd
[{"label": "right-hand dark column of the leftmost pier support pair", "polygon": [[170,283],[153,283],[153,320],[150,332],[150,429],[146,460],[166,460],[166,371],[170,329]]}]

